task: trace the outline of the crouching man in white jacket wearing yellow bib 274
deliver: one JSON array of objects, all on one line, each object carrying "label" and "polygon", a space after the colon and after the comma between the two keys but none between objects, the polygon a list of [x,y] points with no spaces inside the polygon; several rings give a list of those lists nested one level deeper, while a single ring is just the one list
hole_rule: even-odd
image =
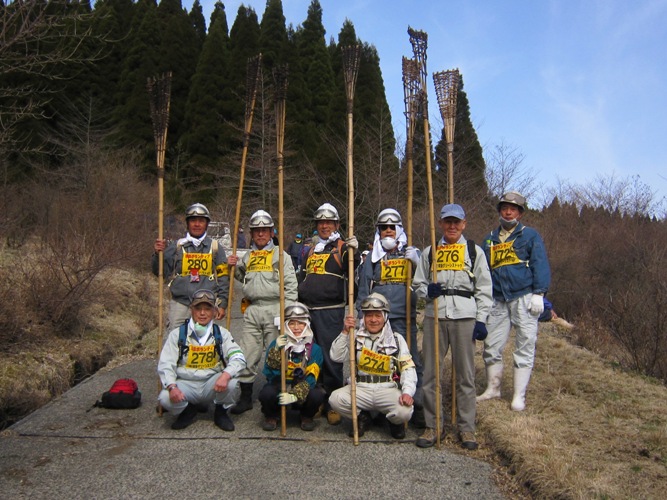
[{"label": "crouching man in white jacket wearing yellow bib 274", "polygon": [[[371,425],[371,412],[386,415],[391,436],[405,437],[405,422],[413,412],[417,372],[410,350],[401,335],[396,335],[387,321],[389,302],[379,293],[371,293],[361,302],[363,326],[356,332],[357,424],[359,436]],[[354,316],[345,318],[345,330],[331,344],[331,359],[342,363],[349,355],[348,329],[356,325]],[[335,390],[331,408],[352,418],[350,386]],[[353,431],[350,432],[350,436]]]}]

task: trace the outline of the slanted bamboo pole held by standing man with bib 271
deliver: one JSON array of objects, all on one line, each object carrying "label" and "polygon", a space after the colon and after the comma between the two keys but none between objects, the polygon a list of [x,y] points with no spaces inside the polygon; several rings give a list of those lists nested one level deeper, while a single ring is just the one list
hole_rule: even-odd
[{"label": "slanted bamboo pole held by standing man with bib 271", "polygon": [[[241,201],[243,200],[243,184],[245,181],[245,165],[252,131],[252,118],[257,102],[257,86],[262,78],[262,54],[248,59],[246,66],[246,98],[245,98],[245,128],[243,132],[243,152],[241,154],[241,172],[239,174],[239,191],[236,195],[236,214],[234,216],[234,234],[232,235],[232,253],[236,255],[239,239],[239,224],[241,221]],[[232,302],[234,300],[234,266],[229,266],[229,296],[227,297],[227,330],[232,324]]]}]

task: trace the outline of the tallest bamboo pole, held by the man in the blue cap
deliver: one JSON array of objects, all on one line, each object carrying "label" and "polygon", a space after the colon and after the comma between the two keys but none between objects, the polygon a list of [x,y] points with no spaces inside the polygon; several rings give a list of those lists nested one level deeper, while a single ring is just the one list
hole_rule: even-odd
[{"label": "tallest bamboo pole, held by the man in the blue cap", "polygon": [[[410,43],[412,44],[412,50],[414,52],[414,58],[417,61],[419,66],[419,78],[420,78],[420,87],[421,87],[421,113],[424,118],[424,153],[426,160],[426,185],[428,188],[428,207],[429,207],[429,225],[431,232],[431,254],[433,258],[433,281],[437,282],[438,280],[438,267],[436,258],[437,252],[437,240],[435,237],[435,212],[434,212],[434,203],[433,203],[433,176],[431,172],[431,132],[428,123],[428,92],[426,85],[426,47],[428,45],[428,35],[424,31],[416,31],[412,28],[408,28],[408,34],[410,35]],[[435,357],[435,432],[436,432],[436,445],[440,449],[440,434],[442,428],[442,422],[440,418],[442,401],[440,394],[440,342],[439,342],[439,331],[440,331],[440,322],[438,318],[438,299],[436,298],[433,301],[433,355]]]}]

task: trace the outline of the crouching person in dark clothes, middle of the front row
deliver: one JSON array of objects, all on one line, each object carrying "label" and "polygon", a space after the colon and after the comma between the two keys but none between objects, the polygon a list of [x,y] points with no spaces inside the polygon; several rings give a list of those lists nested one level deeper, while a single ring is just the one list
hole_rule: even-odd
[{"label": "crouching person in dark clothes, middle of the front row", "polygon": [[[285,379],[289,387],[280,392],[280,354],[285,350],[287,366]],[[266,351],[264,376],[267,383],[259,393],[262,404],[265,431],[278,426],[280,405],[290,405],[301,413],[301,429],[315,429],[313,416],[324,403],[326,392],[316,385],[322,368],[323,356],[320,346],[313,342],[308,307],[296,302],[285,308],[285,334],[271,342]]]}]

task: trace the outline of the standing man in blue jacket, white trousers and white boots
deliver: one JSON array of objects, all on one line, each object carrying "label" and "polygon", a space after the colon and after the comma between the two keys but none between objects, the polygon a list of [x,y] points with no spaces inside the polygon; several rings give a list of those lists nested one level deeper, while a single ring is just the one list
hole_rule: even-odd
[{"label": "standing man in blue jacket, white trousers and white boots", "polygon": [[526,198],[515,191],[507,192],[498,202],[497,209],[500,226],[484,238],[483,245],[493,276],[493,307],[483,354],[487,386],[477,401],[500,397],[503,350],[510,328],[514,326],[514,396],[511,408],[523,411],[535,361],[537,321],[544,311],[544,295],[551,283],[551,270],[539,233],[521,223]]}]

